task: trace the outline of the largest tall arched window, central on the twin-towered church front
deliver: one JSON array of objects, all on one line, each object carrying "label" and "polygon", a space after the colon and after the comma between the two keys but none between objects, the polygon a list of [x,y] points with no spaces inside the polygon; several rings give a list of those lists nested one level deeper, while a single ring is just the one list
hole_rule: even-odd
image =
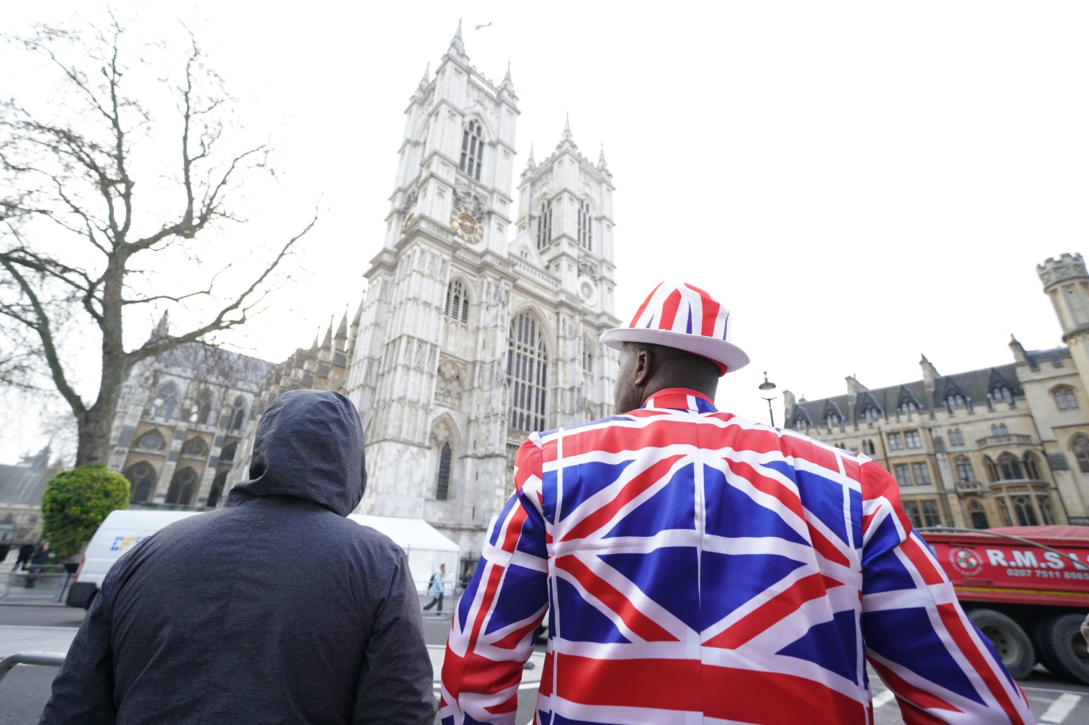
[{"label": "largest tall arched window, central on the twin-towered church front", "polygon": [[521,314],[511,321],[506,352],[506,379],[511,395],[511,427],[543,430],[548,397],[548,353],[537,321]]}]

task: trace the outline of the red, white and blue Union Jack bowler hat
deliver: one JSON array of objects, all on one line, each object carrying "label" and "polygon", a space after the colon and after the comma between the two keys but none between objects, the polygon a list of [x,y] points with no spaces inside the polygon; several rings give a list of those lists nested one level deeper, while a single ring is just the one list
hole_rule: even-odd
[{"label": "red, white and blue Union Jack bowler hat", "polygon": [[614,350],[625,342],[650,342],[707,358],[725,375],[748,364],[730,342],[730,310],[699,287],[663,282],[644,300],[627,327],[613,327],[601,341]]}]

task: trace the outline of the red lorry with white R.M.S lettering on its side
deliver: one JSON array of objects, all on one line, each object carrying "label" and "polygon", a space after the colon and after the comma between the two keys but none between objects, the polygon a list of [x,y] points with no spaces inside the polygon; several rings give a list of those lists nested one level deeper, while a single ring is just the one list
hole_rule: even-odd
[{"label": "red lorry with white R.M.S lettering on its side", "polygon": [[920,529],[968,616],[1020,678],[1039,662],[1089,684],[1089,526]]}]

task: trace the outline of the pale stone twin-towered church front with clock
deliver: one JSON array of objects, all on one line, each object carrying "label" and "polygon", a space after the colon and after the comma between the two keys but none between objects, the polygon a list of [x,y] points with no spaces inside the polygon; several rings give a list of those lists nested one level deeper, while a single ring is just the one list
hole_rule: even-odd
[{"label": "pale stone twin-towered church front with clock", "polygon": [[469,64],[460,30],[409,99],[345,386],[367,436],[358,511],[423,517],[466,557],[530,432],[612,412],[615,355],[598,341],[619,324],[612,176],[565,128],[530,158],[515,222],[517,100],[510,72],[494,85]]}]

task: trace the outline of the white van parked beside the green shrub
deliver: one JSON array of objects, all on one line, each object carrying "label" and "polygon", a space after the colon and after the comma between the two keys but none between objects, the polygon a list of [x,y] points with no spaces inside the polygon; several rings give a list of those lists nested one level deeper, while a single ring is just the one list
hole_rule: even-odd
[{"label": "white van parked beside the green shrub", "polygon": [[121,554],[167,524],[195,516],[197,511],[111,511],[90,537],[69,588],[69,607],[90,607],[106,573]]}]

